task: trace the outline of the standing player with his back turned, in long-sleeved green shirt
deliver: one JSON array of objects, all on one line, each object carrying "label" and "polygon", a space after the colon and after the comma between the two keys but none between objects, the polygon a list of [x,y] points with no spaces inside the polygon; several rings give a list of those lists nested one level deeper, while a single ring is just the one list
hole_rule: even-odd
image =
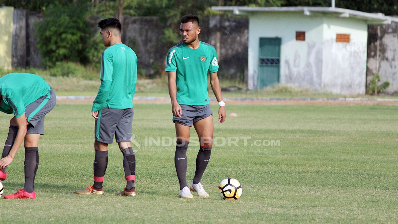
[{"label": "standing player with his back turned, in long-sleeved green shirt", "polygon": [[133,97],[137,83],[137,56],[121,41],[121,23],[116,18],[98,23],[102,42],[108,48],[101,56],[101,86],[92,106],[95,122],[94,184],[75,191],[82,195],[103,194],[102,183],[108,164],[108,144],[113,136],[123,153],[126,187],[120,196],[135,196],[135,154],[131,147]]}]

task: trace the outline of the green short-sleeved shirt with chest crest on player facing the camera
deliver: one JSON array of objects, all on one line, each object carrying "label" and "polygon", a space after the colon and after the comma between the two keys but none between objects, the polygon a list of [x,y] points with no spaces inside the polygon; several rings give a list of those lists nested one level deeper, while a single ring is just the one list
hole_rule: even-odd
[{"label": "green short-sleeved shirt with chest crest on player facing the camera", "polygon": [[209,104],[207,72],[219,70],[216,49],[200,41],[199,48],[189,48],[183,42],[170,48],[165,71],[176,71],[177,102],[201,106]]}]

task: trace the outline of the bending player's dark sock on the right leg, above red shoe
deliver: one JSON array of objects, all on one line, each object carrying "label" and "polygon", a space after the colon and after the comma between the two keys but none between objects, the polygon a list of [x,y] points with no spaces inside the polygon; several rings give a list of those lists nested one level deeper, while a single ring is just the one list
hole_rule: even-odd
[{"label": "bending player's dark sock on the right leg, above red shoe", "polygon": [[37,167],[39,167],[39,148],[29,147],[25,148],[25,186],[23,189],[26,192],[33,192]]}]

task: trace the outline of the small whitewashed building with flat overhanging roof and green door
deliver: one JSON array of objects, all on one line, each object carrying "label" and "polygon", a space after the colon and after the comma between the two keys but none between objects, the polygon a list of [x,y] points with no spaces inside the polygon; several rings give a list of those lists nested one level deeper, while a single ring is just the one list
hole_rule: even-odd
[{"label": "small whitewashed building with flat overhanging roof and green door", "polygon": [[329,7],[236,7],[249,17],[248,88],[274,83],[365,94],[368,24],[398,18]]}]

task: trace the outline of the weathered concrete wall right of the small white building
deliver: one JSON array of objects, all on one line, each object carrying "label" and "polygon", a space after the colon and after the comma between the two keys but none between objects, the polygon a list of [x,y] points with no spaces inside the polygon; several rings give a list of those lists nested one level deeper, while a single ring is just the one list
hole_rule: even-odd
[{"label": "weathered concrete wall right of the small white building", "polygon": [[369,25],[367,85],[374,74],[389,81],[386,93],[398,93],[398,24]]}]

